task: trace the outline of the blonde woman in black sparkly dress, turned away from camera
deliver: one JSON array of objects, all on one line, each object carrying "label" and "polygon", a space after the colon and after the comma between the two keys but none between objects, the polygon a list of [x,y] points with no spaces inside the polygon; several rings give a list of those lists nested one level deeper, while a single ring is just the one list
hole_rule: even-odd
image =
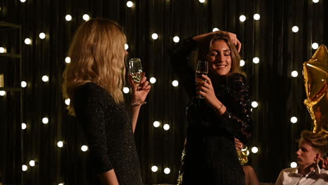
[{"label": "blonde woman in black sparkly dress, turned away from camera", "polygon": [[[84,22],[71,43],[71,63],[63,74],[62,93],[71,99],[69,114],[78,118],[85,132],[102,184],[142,184],[133,137],[141,105],[129,111],[122,93],[125,43],[116,22],[102,18]],[[151,89],[146,77],[138,87],[130,83],[132,101],[144,101]]]}]

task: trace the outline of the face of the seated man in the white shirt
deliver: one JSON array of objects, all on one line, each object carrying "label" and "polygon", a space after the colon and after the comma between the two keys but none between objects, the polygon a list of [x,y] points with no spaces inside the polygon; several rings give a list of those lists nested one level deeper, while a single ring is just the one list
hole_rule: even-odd
[{"label": "face of the seated man in the white shirt", "polygon": [[[301,142],[299,144],[299,150],[296,151],[297,163],[302,167],[308,167],[315,163],[315,157],[318,153],[318,149],[313,148],[308,142]],[[320,154],[319,154],[320,155]]]}]

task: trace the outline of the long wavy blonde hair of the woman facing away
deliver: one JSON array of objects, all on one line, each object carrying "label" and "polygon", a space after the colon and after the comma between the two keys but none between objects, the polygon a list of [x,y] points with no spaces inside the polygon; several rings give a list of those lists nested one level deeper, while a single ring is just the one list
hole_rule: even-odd
[{"label": "long wavy blonde hair of the woman facing away", "polygon": [[[107,90],[116,103],[124,101],[125,48],[123,29],[111,20],[95,18],[78,27],[69,47],[71,62],[63,73],[62,95],[74,100],[74,90],[93,82]],[[69,114],[75,115],[70,104]]]}]

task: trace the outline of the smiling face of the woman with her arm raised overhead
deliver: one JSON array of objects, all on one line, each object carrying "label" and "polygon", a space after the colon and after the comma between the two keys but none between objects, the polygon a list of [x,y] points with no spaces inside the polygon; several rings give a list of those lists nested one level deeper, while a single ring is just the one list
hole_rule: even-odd
[{"label": "smiling face of the woman with her arm raised overhead", "polygon": [[231,70],[231,50],[224,40],[212,42],[207,54],[209,69],[212,73],[224,76]]}]

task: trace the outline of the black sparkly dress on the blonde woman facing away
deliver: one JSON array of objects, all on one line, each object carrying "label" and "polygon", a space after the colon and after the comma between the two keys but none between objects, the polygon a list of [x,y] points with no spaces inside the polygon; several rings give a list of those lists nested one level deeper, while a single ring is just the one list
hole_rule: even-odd
[{"label": "black sparkly dress on the blonde woman facing away", "polygon": [[88,140],[95,172],[114,169],[119,184],[142,184],[132,119],[125,104],[116,104],[99,85],[86,83],[76,88],[73,106]]}]

